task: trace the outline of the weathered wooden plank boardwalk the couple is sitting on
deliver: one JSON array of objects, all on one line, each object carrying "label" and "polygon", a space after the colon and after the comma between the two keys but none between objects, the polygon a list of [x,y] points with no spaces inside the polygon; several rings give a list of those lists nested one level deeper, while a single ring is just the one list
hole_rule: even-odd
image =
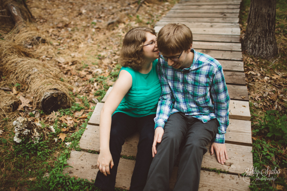
[{"label": "weathered wooden plank boardwalk the couple is sitting on", "polygon": [[[240,28],[238,24],[241,0],[181,0],[154,27],[156,32],[167,23],[184,23],[193,32],[193,48],[216,58],[223,67],[228,92],[230,95],[229,119],[226,132],[226,148],[229,159],[224,165],[217,162],[209,151],[203,156],[199,190],[249,190],[250,179],[241,176],[246,168],[251,168],[251,122],[249,99],[245,86],[245,74],[242,61]],[[79,147],[84,150],[99,151],[100,111],[111,91],[109,88],[103,100],[96,108],[84,131]],[[122,155],[135,156],[138,134],[127,138]],[[208,145],[209,149],[210,144]],[[65,168],[64,173],[88,180],[94,180],[98,168],[98,155],[84,151],[71,151],[67,161],[73,168]],[[121,159],[116,179],[116,187],[129,189],[135,161]],[[228,171],[227,174],[207,171],[216,168]],[[170,190],[176,181],[177,167],[170,178]]]}]

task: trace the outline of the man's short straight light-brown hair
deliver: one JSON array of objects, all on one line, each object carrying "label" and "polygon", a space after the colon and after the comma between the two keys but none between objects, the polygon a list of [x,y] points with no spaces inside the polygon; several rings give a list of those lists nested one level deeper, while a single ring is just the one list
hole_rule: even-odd
[{"label": "man's short straight light-brown hair", "polygon": [[177,54],[189,50],[192,40],[189,27],[181,23],[169,23],[158,32],[158,49],[163,54]]}]

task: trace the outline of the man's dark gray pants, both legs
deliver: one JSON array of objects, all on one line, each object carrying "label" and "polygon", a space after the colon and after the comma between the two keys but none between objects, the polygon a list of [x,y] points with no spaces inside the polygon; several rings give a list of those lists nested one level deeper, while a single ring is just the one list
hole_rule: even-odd
[{"label": "man's dark gray pants, both legs", "polygon": [[215,137],[218,126],[217,119],[203,123],[181,112],[170,115],[164,126],[162,141],[157,144],[157,154],[152,160],[144,191],[169,189],[169,178],[181,144],[174,191],[198,190],[201,162],[207,152],[205,146]]}]

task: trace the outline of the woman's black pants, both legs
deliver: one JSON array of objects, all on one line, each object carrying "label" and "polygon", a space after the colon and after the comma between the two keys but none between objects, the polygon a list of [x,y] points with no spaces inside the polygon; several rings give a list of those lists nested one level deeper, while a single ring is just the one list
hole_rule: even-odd
[{"label": "woman's black pants, both legs", "polygon": [[102,190],[115,190],[116,175],[121,156],[122,145],[125,138],[139,131],[139,143],[137,145],[137,156],[135,168],[131,177],[130,191],[141,191],[144,189],[148,170],[152,162],[152,143],[154,140],[154,117],[130,117],[125,113],[115,113],[112,116],[110,131],[110,153],[113,157],[114,166],[110,174],[104,176],[98,171],[94,185]]}]

